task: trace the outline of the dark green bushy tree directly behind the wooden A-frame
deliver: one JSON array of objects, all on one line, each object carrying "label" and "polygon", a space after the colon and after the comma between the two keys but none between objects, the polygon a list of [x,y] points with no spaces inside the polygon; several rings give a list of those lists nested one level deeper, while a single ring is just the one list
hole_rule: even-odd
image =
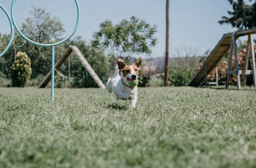
[{"label": "dark green bushy tree directly behind the wooden A-frame", "polygon": [[[80,36],[74,37],[67,43],[62,44],[63,48],[67,48],[69,45],[74,45],[79,48],[88,63],[91,65],[95,73],[101,79],[103,83],[107,82],[108,76],[106,72],[109,69],[109,61],[104,54],[104,51],[98,48],[92,47],[90,44],[87,45]],[[59,70],[65,76],[68,76],[68,61],[65,61]],[[83,73],[84,72],[84,73]],[[81,76],[79,76],[81,74]],[[85,71],[84,65],[77,58],[74,52],[70,54],[70,77],[79,76],[71,81],[71,87],[73,88],[97,88],[98,85],[91,77],[89,72]],[[66,79],[68,80],[68,79]],[[56,83],[59,81],[65,84],[65,80],[61,76],[56,76]]]}]

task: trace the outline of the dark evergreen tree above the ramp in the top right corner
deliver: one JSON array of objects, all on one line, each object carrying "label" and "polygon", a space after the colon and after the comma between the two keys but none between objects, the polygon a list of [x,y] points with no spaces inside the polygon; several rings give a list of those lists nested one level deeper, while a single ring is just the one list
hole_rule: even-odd
[{"label": "dark evergreen tree above the ramp in the top right corner", "polygon": [[228,0],[233,6],[234,11],[227,11],[231,17],[222,16],[219,23],[231,24],[239,30],[247,29],[256,26],[256,1],[252,5],[245,4],[244,0]]}]

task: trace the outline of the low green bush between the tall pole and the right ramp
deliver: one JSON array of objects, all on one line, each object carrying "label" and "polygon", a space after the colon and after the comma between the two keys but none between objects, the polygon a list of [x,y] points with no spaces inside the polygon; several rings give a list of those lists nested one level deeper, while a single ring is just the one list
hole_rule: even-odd
[{"label": "low green bush between the tall pole and the right ramp", "polygon": [[184,86],[191,76],[193,76],[194,70],[185,66],[180,66],[178,69],[170,70],[169,85],[171,86]]}]

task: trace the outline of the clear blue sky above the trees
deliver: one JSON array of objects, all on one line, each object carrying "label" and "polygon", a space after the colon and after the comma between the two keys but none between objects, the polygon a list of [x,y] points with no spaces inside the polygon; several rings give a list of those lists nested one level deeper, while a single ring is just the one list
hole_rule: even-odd
[{"label": "clear blue sky above the trees", "polygon": [[[10,13],[12,0],[0,0]],[[156,37],[158,44],[152,48],[152,57],[163,56],[165,51],[165,0],[78,0],[81,20],[74,34],[86,41],[92,40],[92,34],[106,19],[114,24],[121,19],[134,15],[145,19],[151,25],[158,26]],[[66,34],[70,34],[76,23],[76,6],[73,0],[16,0],[15,21],[18,26],[29,17],[31,4],[46,8],[52,16],[57,16],[65,25]],[[170,53],[180,47],[196,48],[199,54],[213,49],[222,35],[235,29],[230,25],[220,25],[221,16],[227,16],[232,10],[227,0],[170,0]],[[0,10],[0,33],[10,33],[10,25],[5,13]],[[141,55],[143,56],[143,55]],[[171,56],[171,55],[170,55]],[[144,56],[143,56],[144,57]]]}]

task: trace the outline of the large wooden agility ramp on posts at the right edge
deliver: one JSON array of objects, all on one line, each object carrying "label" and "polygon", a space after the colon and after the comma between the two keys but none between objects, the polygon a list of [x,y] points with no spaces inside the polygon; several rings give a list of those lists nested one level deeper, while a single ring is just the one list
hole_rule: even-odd
[{"label": "large wooden agility ramp on posts at the right edge", "polygon": [[[211,72],[216,66],[219,61],[224,57],[226,52],[230,49],[230,55],[234,53],[235,56],[235,68],[236,70],[230,70],[231,68],[231,61],[232,57],[229,57],[228,62],[228,70],[226,71],[227,79],[226,79],[226,87],[229,86],[229,76],[230,74],[235,74],[237,79],[237,87],[241,87],[240,83],[240,75],[253,75],[253,82],[254,87],[256,83],[256,72],[255,72],[255,56],[254,56],[254,46],[253,46],[253,39],[252,34],[256,33],[256,28],[232,32],[224,34],[223,37],[220,39],[218,44],[212,50],[211,54],[205,59],[203,65],[198,68],[195,72],[194,76],[189,80],[186,86],[198,86],[200,85],[203,80],[205,80],[205,85],[207,86],[207,74]],[[246,58],[245,58],[245,67],[244,70],[239,70],[238,67],[238,60],[237,60],[237,51],[236,51],[236,39],[240,36],[248,35],[248,45],[246,49]],[[248,60],[249,60],[249,52],[251,50],[251,58],[252,58],[252,70],[248,70]],[[217,77],[217,76],[216,76]],[[243,85],[246,84],[246,78],[244,78]]]}]

